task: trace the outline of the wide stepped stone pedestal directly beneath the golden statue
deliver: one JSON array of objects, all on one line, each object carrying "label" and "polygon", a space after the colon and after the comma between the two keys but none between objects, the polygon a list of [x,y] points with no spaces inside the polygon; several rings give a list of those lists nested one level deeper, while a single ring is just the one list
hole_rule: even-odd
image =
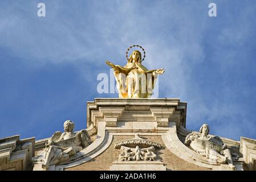
[{"label": "wide stepped stone pedestal directly beneath the golden statue", "polygon": [[105,130],[157,130],[169,127],[169,121],[177,128],[186,123],[186,102],[179,99],[120,99],[95,98],[87,102],[87,131],[96,133],[99,123]]}]

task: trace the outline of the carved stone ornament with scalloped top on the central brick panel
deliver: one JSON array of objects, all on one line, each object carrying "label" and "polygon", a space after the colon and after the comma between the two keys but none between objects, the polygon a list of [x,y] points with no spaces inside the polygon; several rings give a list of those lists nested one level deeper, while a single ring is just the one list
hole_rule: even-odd
[{"label": "carved stone ornament with scalloped top on the central brick panel", "polygon": [[156,160],[155,148],[161,148],[156,142],[151,142],[135,134],[135,138],[116,142],[114,148],[120,149],[118,161],[153,161]]}]

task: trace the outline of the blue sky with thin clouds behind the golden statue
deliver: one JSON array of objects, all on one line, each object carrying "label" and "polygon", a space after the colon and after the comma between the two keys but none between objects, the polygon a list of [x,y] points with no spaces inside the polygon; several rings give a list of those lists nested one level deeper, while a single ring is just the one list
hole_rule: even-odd
[{"label": "blue sky with thin clouds behind the golden statue", "polygon": [[254,0],[1,1],[0,138],[50,137],[66,119],[86,128],[87,101],[118,97],[97,93],[105,60],[124,65],[140,44],[147,68],[165,68],[159,97],[188,102],[188,129],[256,139],[255,11]]}]

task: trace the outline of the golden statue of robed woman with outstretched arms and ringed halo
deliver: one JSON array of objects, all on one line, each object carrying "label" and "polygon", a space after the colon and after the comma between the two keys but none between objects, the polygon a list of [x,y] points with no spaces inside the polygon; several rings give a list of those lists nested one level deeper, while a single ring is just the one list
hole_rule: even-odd
[{"label": "golden statue of robed woman with outstretched arms and ringed halo", "polygon": [[141,53],[137,50],[132,52],[128,63],[124,67],[115,65],[110,61],[106,61],[106,64],[113,68],[119,98],[150,98],[155,87],[157,75],[164,73],[163,68],[148,70],[144,67],[141,64]]}]

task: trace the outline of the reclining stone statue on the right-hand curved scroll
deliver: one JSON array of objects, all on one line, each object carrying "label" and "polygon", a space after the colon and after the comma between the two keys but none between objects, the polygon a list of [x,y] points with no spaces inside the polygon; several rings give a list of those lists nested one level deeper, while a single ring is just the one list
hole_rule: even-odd
[{"label": "reclining stone statue on the right-hand curved scroll", "polygon": [[229,168],[234,170],[235,166],[233,165],[232,154],[221,138],[208,136],[210,129],[207,124],[201,126],[199,133],[200,134],[193,132],[188,134],[185,139],[186,146],[189,146],[194,151],[198,152],[198,154],[205,156],[211,162],[222,164],[227,162]]}]

